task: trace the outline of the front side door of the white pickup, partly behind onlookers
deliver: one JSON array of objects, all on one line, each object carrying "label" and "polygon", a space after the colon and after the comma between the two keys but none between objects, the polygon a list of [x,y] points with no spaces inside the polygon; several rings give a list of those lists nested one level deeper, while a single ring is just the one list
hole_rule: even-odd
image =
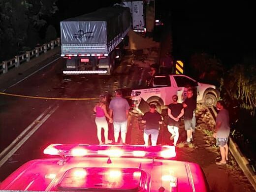
[{"label": "front side door of the white pickup, partly behind onlookers", "polygon": [[[182,95],[186,97],[186,92],[187,92],[186,88],[188,88],[188,87],[194,88],[193,96],[197,96],[198,83],[195,80],[193,80],[192,78],[190,78],[186,75],[174,75],[173,78],[176,82],[176,86],[178,89],[178,97],[179,97],[178,102],[182,102],[182,100],[181,100]],[[196,91],[195,91],[195,89],[196,89]]]}]

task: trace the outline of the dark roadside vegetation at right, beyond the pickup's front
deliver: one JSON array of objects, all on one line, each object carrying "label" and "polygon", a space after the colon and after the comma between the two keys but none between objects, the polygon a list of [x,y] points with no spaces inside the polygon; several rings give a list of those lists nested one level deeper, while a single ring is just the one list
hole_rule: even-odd
[{"label": "dark roadside vegetation at right, beyond the pickup's front", "polygon": [[[194,54],[190,60],[194,75],[200,81],[220,88],[230,115],[231,137],[256,169],[256,67],[255,64],[235,64],[231,68],[209,54]],[[204,130],[211,136],[211,130]]]}]

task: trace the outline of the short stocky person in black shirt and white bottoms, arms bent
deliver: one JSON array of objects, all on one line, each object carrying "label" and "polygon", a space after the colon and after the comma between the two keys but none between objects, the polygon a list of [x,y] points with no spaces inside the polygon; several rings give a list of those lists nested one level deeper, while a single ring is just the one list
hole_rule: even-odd
[{"label": "short stocky person in black shirt and white bottoms, arms bent", "polygon": [[148,146],[149,135],[151,134],[152,146],[156,146],[159,134],[159,125],[162,124],[162,118],[160,114],[156,112],[156,105],[150,105],[149,112],[144,114],[141,123],[146,123],[143,134],[145,145]]}]

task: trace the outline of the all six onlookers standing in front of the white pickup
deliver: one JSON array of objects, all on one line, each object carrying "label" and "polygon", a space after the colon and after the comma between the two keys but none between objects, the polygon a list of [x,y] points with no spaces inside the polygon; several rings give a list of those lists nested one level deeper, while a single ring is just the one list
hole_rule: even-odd
[{"label": "all six onlookers standing in front of the white pickup", "polygon": [[[196,94],[196,93],[195,93]],[[195,109],[196,109],[196,96],[194,96],[193,89],[187,88],[183,93],[183,103],[178,103],[178,96],[172,96],[173,102],[168,105],[168,125],[167,129],[171,133],[170,139],[174,140],[173,145],[176,146],[179,139],[179,126],[181,118],[184,117],[184,126],[187,132],[187,143],[191,143],[192,134],[195,130]],[[226,164],[228,160],[228,137],[230,133],[229,115],[224,107],[222,100],[217,101],[217,109],[220,111],[216,117],[216,127],[213,136],[216,138],[217,146],[220,146],[221,160],[216,162],[218,165]],[[99,102],[95,105],[94,111],[96,112],[96,127],[97,138],[99,144],[109,144],[112,140],[108,139],[108,123],[113,123],[115,143],[118,142],[119,133],[121,131],[122,143],[126,143],[127,123],[128,123],[128,101],[122,97],[122,92],[117,90],[115,97],[111,99],[109,104],[109,113],[107,110],[107,96],[100,96]],[[156,105],[151,104],[149,112],[146,112],[141,123],[145,124],[144,128],[144,142],[149,145],[149,136],[151,135],[152,146],[157,145],[159,127],[162,124],[162,117],[156,111]],[[101,129],[104,129],[105,142],[101,138]]]}]

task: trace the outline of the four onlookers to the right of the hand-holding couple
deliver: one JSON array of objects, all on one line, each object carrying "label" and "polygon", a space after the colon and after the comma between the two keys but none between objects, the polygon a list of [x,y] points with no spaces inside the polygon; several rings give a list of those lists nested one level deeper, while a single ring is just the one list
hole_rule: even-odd
[{"label": "four onlookers to the right of the hand-holding couple", "polygon": [[[193,89],[188,88],[186,98],[183,103],[178,103],[178,96],[172,96],[173,102],[168,105],[168,125],[167,129],[172,134],[170,139],[174,140],[173,145],[176,146],[179,139],[179,126],[181,118],[184,117],[184,126],[187,132],[187,143],[191,143],[192,134],[195,130],[195,109],[196,97],[193,96]],[[224,101],[219,100],[216,104],[219,113],[216,117],[216,127],[213,137],[216,138],[216,145],[220,147],[221,160],[217,161],[217,165],[226,164],[228,160],[228,137],[230,133],[229,115],[225,109]],[[150,105],[150,111],[145,113],[142,123],[146,123],[144,128],[145,145],[149,143],[149,135],[151,134],[152,146],[157,145],[159,126],[162,124],[160,114],[156,111],[156,105]]]}]

